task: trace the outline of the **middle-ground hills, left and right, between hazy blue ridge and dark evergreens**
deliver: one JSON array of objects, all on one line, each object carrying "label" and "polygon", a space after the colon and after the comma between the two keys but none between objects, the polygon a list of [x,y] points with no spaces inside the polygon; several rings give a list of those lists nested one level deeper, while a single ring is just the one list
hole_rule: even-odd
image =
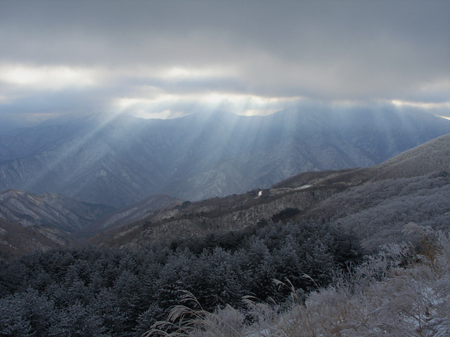
[{"label": "middle-ground hills, left and right, between hazy blue ridge and dark evergreens", "polygon": [[352,230],[366,249],[404,239],[409,223],[450,223],[450,134],[368,168],[300,173],[268,189],[182,201],[167,195],[125,209],[54,194],[0,194],[0,248],[5,258],[33,249],[95,246],[139,249],[225,234],[272,222],[315,220]]}]

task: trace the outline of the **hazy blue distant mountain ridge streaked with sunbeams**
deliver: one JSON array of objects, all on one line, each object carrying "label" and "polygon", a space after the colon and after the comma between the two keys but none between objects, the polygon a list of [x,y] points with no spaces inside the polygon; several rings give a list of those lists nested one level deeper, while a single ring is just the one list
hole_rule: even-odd
[{"label": "hazy blue distant mountain ridge streaked with sunbeams", "polygon": [[117,208],[157,194],[223,197],[299,172],[372,166],[449,132],[446,119],[389,108],[48,121],[0,135],[0,190]]}]

